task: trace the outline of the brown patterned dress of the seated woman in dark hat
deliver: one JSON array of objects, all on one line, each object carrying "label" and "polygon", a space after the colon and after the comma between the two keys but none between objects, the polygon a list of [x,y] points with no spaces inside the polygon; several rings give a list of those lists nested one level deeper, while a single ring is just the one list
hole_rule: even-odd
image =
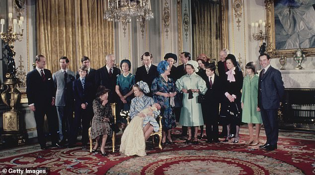
[{"label": "brown patterned dress of the seated woman in dark hat", "polygon": [[111,136],[113,131],[110,128],[108,122],[105,122],[105,118],[113,119],[112,108],[110,103],[107,103],[105,106],[102,105],[99,98],[93,101],[93,112],[94,117],[92,119],[91,126],[91,138],[95,139],[97,136],[107,134]]}]

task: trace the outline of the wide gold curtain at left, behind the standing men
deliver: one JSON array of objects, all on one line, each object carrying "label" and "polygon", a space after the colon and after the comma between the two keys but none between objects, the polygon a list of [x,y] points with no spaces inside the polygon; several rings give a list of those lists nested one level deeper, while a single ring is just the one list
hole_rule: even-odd
[{"label": "wide gold curtain at left, behind the standing men", "polygon": [[46,67],[59,70],[62,56],[70,59],[73,71],[82,56],[90,58],[93,68],[104,66],[105,56],[114,53],[114,26],[103,12],[103,0],[37,0],[37,54],[46,57]]}]

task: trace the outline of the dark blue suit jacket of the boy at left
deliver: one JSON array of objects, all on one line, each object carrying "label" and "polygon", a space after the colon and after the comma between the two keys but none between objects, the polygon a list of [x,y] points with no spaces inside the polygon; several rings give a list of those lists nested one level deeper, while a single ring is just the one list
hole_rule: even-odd
[{"label": "dark blue suit jacket of the boy at left", "polygon": [[76,108],[81,108],[82,103],[87,103],[88,106],[92,106],[93,97],[91,95],[91,89],[93,85],[85,80],[84,89],[82,87],[81,80],[78,78],[73,82],[73,92],[76,100]]}]

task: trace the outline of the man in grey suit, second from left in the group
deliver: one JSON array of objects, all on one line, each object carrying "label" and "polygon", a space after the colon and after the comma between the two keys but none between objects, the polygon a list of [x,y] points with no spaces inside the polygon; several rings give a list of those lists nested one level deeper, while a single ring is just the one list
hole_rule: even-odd
[{"label": "man in grey suit, second from left in the group", "polygon": [[56,91],[56,107],[59,119],[59,133],[62,136],[60,142],[64,145],[69,139],[70,127],[73,115],[73,81],[76,80],[75,72],[68,69],[69,59],[67,57],[59,58],[60,70],[53,74]]}]

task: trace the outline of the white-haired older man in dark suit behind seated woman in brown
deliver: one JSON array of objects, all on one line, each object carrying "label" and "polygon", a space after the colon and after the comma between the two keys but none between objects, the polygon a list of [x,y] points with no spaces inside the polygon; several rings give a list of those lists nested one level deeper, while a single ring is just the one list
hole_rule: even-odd
[{"label": "white-haired older man in dark suit behind seated woman in brown", "polygon": [[[117,103],[119,100],[118,95],[115,92],[117,75],[120,75],[120,69],[114,67],[115,65],[115,56],[107,55],[105,57],[106,65],[97,69],[95,76],[96,87],[99,85],[105,86],[110,90],[108,93],[108,102]],[[118,110],[116,110],[118,111]]]}]

